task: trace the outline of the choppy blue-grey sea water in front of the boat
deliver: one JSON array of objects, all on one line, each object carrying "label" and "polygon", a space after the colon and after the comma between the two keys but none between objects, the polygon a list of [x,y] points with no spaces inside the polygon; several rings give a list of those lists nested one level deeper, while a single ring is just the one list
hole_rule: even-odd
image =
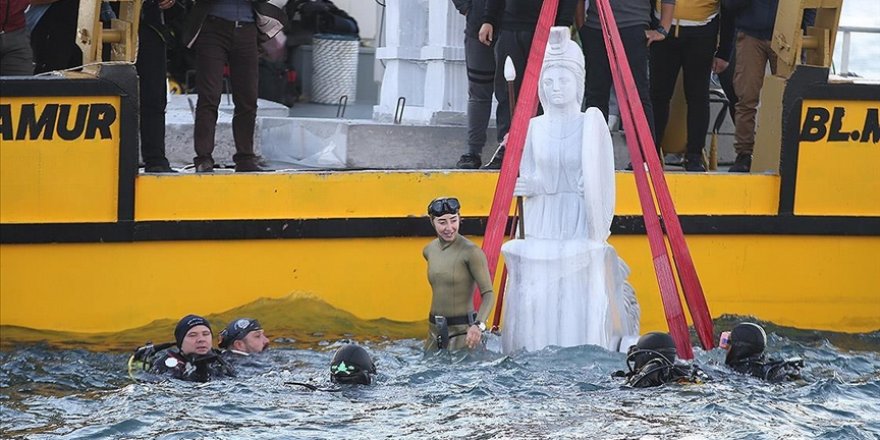
[{"label": "choppy blue-grey sea water in front of the boat", "polygon": [[261,355],[265,368],[205,384],[134,381],[128,353],[7,347],[0,437],[880,438],[880,332],[768,330],[769,352],[805,359],[804,380],[733,374],[723,351],[697,349],[711,381],[627,389],[611,377],[624,368],[621,353],[582,346],[506,356],[493,351],[496,336],[485,351],[428,356],[415,339],[355,341],[378,375],[345,387],[329,381],[329,363],[346,340],[276,341]]}]

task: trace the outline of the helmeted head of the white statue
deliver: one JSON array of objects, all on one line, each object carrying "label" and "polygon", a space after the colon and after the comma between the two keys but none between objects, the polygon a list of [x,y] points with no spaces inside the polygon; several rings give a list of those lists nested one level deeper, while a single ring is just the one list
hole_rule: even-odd
[{"label": "helmeted head of the white statue", "polygon": [[[571,78],[568,78],[569,74]],[[558,107],[560,102],[577,103],[580,111],[584,100],[584,54],[580,46],[571,40],[568,27],[555,26],[550,28],[550,38],[544,52],[544,64],[538,80],[538,98],[545,109]],[[559,81],[574,81],[574,96],[554,96],[553,89]],[[574,98],[573,101],[570,98]]]}]

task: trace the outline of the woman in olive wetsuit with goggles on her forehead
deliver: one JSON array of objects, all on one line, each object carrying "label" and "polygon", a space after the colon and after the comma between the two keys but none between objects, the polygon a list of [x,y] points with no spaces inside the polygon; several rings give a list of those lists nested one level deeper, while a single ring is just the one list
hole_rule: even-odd
[{"label": "woman in olive wetsuit with goggles on her forehead", "polygon": [[[495,304],[486,255],[458,233],[460,209],[454,197],[434,199],[428,204],[437,238],[422,251],[433,292],[425,351],[477,347]],[[474,283],[482,296],[479,311],[473,306]]]}]

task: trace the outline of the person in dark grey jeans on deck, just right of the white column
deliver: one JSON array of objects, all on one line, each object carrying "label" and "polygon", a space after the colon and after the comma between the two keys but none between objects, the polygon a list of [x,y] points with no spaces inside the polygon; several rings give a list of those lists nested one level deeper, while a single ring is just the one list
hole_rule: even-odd
[{"label": "person in dark grey jeans on deck, just right of the white column", "polygon": [[[452,0],[452,3],[466,20],[464,60],[468,75],[468,151],[461,156],[456,167],[477,169],[483,165],[481,155],[486,145],[486,128],[492,114],[495,52],[491,46],[480,43],[479,38],[486,0]],[[501,142],[501,138],[498,142]]]}]

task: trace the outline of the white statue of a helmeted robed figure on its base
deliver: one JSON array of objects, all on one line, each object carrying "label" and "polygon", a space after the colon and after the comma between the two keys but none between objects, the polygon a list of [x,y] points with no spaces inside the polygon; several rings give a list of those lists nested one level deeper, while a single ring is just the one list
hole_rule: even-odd
[{"label": "white statue of a helmeted robed figure on its base", "polygon": [[524,197],[525,238],[501,248],[505,353],[583,344],[626,350],[639,335],[629,268],[607,241],[611,136],[598,109],[580,111],[584,56],[569,35],[567,27],[551,29],[538,83],[544,114],[529,123],[514,189]]}]

